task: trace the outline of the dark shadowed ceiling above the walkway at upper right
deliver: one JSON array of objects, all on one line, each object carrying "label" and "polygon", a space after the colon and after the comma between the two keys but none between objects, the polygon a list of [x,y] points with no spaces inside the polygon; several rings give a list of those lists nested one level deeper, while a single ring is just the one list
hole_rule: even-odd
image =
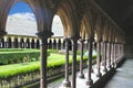
[{"label": "dark shadowed ceiling above the walkway at upper right", "polygon": [[98,4],[123,29],[133,36],[133,0],[95,0]]}]

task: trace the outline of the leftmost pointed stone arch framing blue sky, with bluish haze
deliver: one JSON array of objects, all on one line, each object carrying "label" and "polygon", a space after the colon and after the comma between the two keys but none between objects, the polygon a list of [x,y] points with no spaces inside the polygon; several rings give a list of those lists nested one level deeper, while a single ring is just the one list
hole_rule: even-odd
[{"label": "leftmost pointed stone arch framing blue sky, with bluish haze", "polygon": [[40,22],[42,20],[42,16],[41,16],[42,13],[41,13],[41,10],[40,10],[41,7],[38,3],[38,0],[10,0],[10,1],[2,0],[2,1],[4,1],[3,2],[4,6],[1,8],[3,11],[1,11],[1,14],[0,14],[1,31],[3,31],[3,32],[6,31],[6,23],[7,23],[9,11],[18,2],[25,2],[30,7],[32,12],[34,13],[38,29],[41,26],[42,23],[40,23]]}]

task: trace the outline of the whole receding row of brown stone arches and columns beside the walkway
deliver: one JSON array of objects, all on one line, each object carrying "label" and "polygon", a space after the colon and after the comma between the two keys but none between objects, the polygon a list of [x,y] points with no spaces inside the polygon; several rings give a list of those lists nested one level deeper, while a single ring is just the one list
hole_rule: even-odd
[{"label": "whole receding row of brown stone arches and columns beside the walkway", "polygon": [[[93,80],[91,77],[92,70],[92,48],[93,42],[98,44],[98,73],[96,76],[100,78],[102,75],[100,73],[100,50],[101,50],[101,42],[103,41],[104,44],[104,53],[106,53],[106,43],[109,43],[109,66],[114,67],[114,59],[116,61],[115,54],[117,53],[115,50],[120,47],[123,51],[123,33],[120,28],[99,8],[94,4],[94,2],[83,0],[0,0],[0,37],[6,34],[6,22],[7,16],[10,8],[17,1],[24,1],[27,2],[37,19],[38,24],[38,37],[41,40],[41,70],[40,70],[40,87],[47,88],[47,50],[48,50],[48,37],[51,37],[53,33],[51,32],[51,25],[53,21],[53,16],[58,14],[61,18],[64,28],[64,37],[66,41],[72,42],[72,88],[76,88],[76,73],[75,73],[75,65],[76,65],[76,47],[78,47],[78,40],[86,40],[89,42],[89,65],[88,65],[88,79],[86,85],[92,86]],[[92,6],[91,6],[92,4]],[[80,8],[78,8],[80,7]],[[81,10],[80,10],[81,9]],[[83,11],[82,11],[83,10]],[[103,16],[105,16],[103,19]],[[122,33],[122,34],[121,34]],[[96,35],[96,38],[94,36]],[[117,36],[120,35],[120,36]],[[119,38],[121,38],[119,41]],[[38,41],[39,42],[39,41]],[[115,42],[119,42],[116,45]],[[116,47],[115,47],[116,45]],[[69,80],[69,48],[68,43],[65,43],[65,81],[64,86],[70,86]],[[122,52],[119,52],[119,57],[122,57]],[[106,55],[104,55],[104,72],[106,72]],[[81,67],[82,68],[82,67]],[[82,73],[82,72],[81,72]]]}]

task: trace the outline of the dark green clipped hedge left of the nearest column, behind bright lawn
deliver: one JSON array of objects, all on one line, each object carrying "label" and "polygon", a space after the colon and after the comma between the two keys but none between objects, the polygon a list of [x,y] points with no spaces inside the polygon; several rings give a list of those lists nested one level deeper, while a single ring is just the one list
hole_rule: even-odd
[{"label": "dark green clipped hedge left of the nearest column, behind bright lawn", "polygon": [[39,59],[39,56],[40,52],[4,52],[0,53],[0,64],[27,63]]}]

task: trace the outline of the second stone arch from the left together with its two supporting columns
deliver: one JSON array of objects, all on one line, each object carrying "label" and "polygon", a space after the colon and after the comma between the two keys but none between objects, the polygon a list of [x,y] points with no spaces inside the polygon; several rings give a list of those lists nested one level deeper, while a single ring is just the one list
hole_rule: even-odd
[{"label": "second stone arch from the left together with its two supporting columns", "polygon": [[[74,6],[74,4],[73,4]],[[64,32],[64,41],[65,43],[65,79],[63,81],[63,86],[71,87],[71,82],[69,80],[69,51],[72,47],[72,87],[75,87],[75,65],[76,65],[76,47],[78,47],[78,28],[76,28],[76,21],[74,16],[74,8],[70,6],[70,1],[65,1],[63,3],[60,3],[58,8],[55,9],[54,15],[59,15],[61,19],[61,22],[63,24],[63,32]],[[72,46],[70,46],[72,43]]]}]

